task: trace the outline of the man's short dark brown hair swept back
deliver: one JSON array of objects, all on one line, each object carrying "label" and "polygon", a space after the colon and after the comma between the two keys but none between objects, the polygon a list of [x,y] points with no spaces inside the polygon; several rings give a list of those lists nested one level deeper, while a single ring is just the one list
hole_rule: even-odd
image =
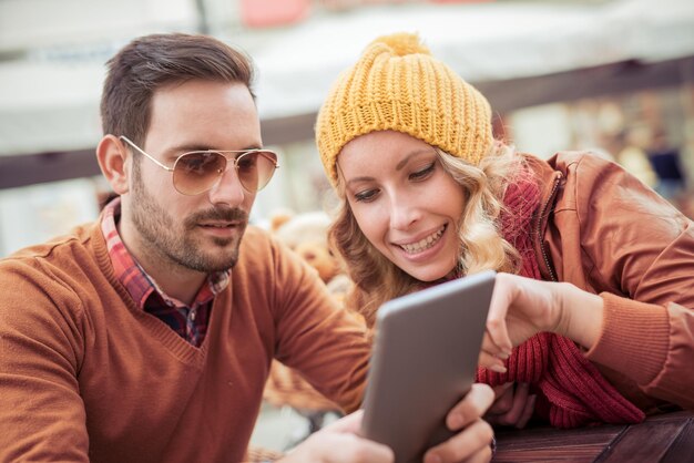
[{"label": "man's short dark brown hair swept back", "polygon": [[152,95],[164,85],[193,79],[238,82],[253,95],[251,59],[206,35],[145,35],[121,49],[106,65],[101,96],[103,133],[125,135],[134,143],[144,141]]}]

